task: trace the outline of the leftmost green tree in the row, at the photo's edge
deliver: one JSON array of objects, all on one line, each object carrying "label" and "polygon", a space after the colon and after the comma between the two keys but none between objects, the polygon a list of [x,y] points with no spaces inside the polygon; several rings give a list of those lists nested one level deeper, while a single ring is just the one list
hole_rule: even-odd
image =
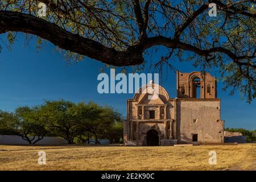
[{"label": "leftmost green tree in the row, at the photo's edge", "polygon": [[0,125],[29,144],[35,144],[47,134],[46,121],[41,117],[38,106],[18,107],[13,113],[1,111]]}]

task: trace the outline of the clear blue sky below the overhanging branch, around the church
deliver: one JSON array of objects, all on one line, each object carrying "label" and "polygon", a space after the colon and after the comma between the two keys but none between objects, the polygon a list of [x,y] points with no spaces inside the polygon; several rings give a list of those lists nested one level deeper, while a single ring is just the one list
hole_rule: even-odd
[{"label": "clear blue sky below the overhanging branch, around the church", "polygon": [[[5,37],[0,35],[3,41],[6,41]],[[35,41],[32,40],[29,46],[24,46],[24,36],[21,34],[18,35],[12,51],[7,50],[2,42],[0,45],[3,48],[0,53],[1,110],[11,111],[18,106],[38,105],[44,100],[63,98],[74,102],[94,101],[100,105],[110,105],[126,115],[126,100],[133,98],[133,94],[97,92],[100,82],[97,81],[97,76],[100,69],[105,68],[100,61],[86,57],[84,61],[68,65],[53,44],[47,43],[42,50],[36,52]],[[200,71],[188,62],[174,61],[172,64],[181,72]],[[109,69],[106,69],[106,73],[109,75]],[[217,76],[214,74],[212,73]],[[170,97],[175,98],[176,73],[164,71],[162,81]],[[256,129],[255,101],[249,105],[241,100],[238,92],[234,96],[228,96],[227,92],[221,90],[222,87],[222,82],[218,82],[221,119],[225,120],[225,127]]]}]

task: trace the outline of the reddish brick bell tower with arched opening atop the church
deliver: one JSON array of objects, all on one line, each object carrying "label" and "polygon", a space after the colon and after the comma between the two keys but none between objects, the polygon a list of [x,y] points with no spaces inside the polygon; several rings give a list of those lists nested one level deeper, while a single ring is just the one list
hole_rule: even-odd
[{"label": "reddish brick bell tower with arched opening atop the church", "polygon": [[177,71],[177,98],[217,98],[217,82],[210,73]]}]

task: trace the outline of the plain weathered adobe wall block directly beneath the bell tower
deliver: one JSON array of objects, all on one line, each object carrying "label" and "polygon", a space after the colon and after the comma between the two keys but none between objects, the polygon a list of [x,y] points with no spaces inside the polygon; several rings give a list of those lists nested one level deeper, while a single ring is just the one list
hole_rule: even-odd
[{"label": "plain weathered adobe wall block directly beneath the bell tower", "polygon": [[220,100],[177,100],[178,143],[192,143],[192,134],[201,143],[223,143]]}]

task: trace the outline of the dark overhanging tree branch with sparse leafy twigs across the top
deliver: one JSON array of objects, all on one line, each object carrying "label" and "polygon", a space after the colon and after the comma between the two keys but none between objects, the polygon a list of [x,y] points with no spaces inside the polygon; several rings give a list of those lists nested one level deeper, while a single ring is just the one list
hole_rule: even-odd
[{"label": "dark overhanging tree branch with sparse leafy twigs across the top", "polygon": [[[38,17],[38,3],[47,5]],[[217,16],[208,15],[209,4]],[[255,1],[235,0],[3,0],[0,34],[24,32],[48,40],[73,59],[88,56],[118,67],[144,65],[144,53],[166,48],[152,63],[171,67],[172,59],[218,68],[225,88],[255,98]],[[154,53],[154,52],[153,52]]]}]

